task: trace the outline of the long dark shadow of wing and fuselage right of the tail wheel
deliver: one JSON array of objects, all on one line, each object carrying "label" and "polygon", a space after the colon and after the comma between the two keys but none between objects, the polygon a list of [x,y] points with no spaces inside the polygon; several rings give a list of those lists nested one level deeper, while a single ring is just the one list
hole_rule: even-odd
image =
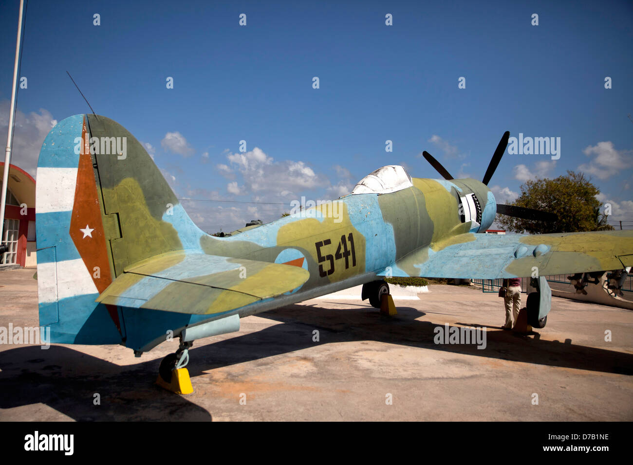
[{"label": "long dark shadow of wing and fuselage right of the tail wheel", "polygon": [[[475,344],[434,344],[434,330],[443,325],[415,319],[424,315],[411,307],[398,307],[398,315],[388,317],[371,307],[352,304],[346,309],[287,306],[258,314],[284,325],[270,326],[256,333],[192,350],[189,372],[195,376],[206,369],[271,357],[318,344],[375,340],[479,357],[633,375],[632,354],[571,344],[570,340],[544,340],[538,332],[546,333],[546,328],[536,330],[536,337],[527,337],[504,331],[500,327],[489,327],[486,349],[477,349]],[[479,326],[476,323],[459,324]],[[314,330],[319,331],[319,342],[313,342]],[[249,347],[249,350],[244,350],[244,347]],[[200,363],[203,359],[206,363]]]}]

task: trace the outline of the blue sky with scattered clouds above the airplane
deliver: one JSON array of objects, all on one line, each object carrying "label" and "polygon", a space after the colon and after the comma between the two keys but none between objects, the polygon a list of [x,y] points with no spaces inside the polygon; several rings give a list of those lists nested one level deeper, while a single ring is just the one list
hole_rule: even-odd
[{"label": "blue sky with scattered clouds above the airplane", "polygon": [[[0,142],[18,4],[0,5]],[[633,225],[632,39],[630,1],[31,0],[12,161],[32,171],[51,121],[89,111],[68,70],[96,113],[151,146],[179,197],[335,198],[385,164],[439,177],[423,150],[454,176],[481,179],[509,130],[560,137],[561,156],[506,152],[490,183],[499,202],[529,178],[582,167],[612,220]],[[209,232],[289,209],[184,206]]]}]

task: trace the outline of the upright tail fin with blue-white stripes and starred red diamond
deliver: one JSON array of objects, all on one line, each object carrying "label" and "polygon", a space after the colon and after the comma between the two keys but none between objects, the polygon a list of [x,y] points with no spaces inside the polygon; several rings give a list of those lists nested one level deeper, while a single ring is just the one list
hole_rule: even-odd
[{"label": "upright tail fin with blue-white stripes and starred red diamond", "polygon": [[204,235],[142,144],[97,115],[70,116],[47,135],[35,213],[40,325],[66,344],[125,340],[121,309],[95,299],[127,266],[199,249]]}]

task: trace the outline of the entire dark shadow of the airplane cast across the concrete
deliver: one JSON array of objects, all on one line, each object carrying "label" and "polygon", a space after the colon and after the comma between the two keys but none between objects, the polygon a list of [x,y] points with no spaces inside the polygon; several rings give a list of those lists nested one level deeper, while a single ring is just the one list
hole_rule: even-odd
[{"label": "entire dark shadow of the airplane cast across the concrete", "polygon": [[[418,321],[424,313],[399,307],[387,317],[366,306],[344,309],[293,305],[258,316],[284,323],[231,337],[190,350],[187,368],[192,376],[233,364],[307,349],[320,344],[375,340],[420,349],[565,368],[633,375],[633,355],[501,330],[487,332],[486,349],[475,344],[434,344],[434,329],[441,326]],[[465,324],[467,325],[467,324]],[[467,325],[476,326],[476,325]],[[318,330],[319,341],[313,341]],[[542,330],[543,332],[546,330]],[[420,353],[423,357],[423,353]],[[90,420],[194,420],[210,421],[202,407],[153,384],[160,359],[118,366],[70,347],[52,345],[18,347],[0,352],[0,408],[41,402],[80,421]],[[94,406],[94,394],[101,406]],[[38,418],[32,418],[39,420]]]}]

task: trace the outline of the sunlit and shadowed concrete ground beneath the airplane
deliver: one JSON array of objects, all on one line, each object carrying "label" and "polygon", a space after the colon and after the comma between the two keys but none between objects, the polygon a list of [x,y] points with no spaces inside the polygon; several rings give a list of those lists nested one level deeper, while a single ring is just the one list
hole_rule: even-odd
[{"label": "sunlit and shadowed concrete ground beneath the airplane", "polygon": [[[0,326],[38,325],[33,274],[0,271]],[[177,342],[140,359],[121,346],[0,345],[0,419],[633,419],[630,311],[554,298],[546,328],[521,336],[500,329],[496,294],[429,291],[396,300],[391,318],[360,298],[244,318],[239,333],[196,341],[187,396],[154,384]],[[486,326],[486,349],[434,344],[434,328],[445,323]]]}]

